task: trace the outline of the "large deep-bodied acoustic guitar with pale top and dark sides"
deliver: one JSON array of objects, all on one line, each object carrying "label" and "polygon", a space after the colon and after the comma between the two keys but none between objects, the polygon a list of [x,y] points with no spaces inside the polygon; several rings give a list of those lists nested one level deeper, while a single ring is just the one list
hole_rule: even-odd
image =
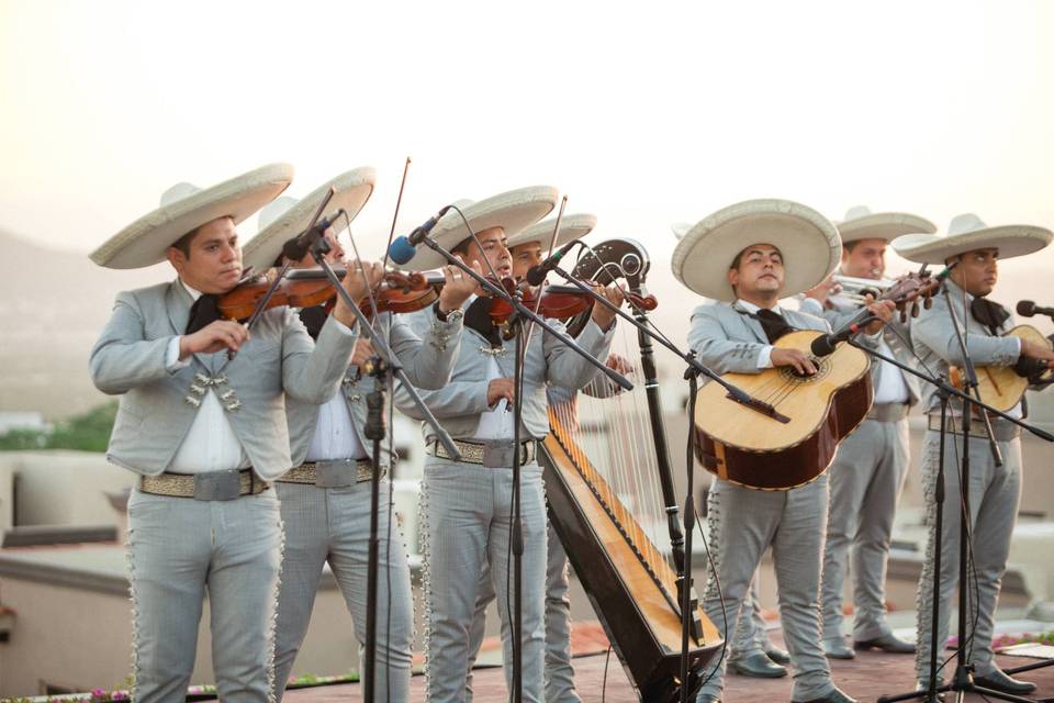
[{"label": "large deep-bodied acoustic guitar with pale top and dark sides", "polygon": [[[879,300],[892,300],[904,311],[918,300],[927,304],[939,281],[929,274],[909,274]],[[860,315],[848,323],[859,324]],[[848,326],[846,325],[846,326]],[[696,395],[695,454],[718,477],[764,491],[785,491],[820,477],[839,443],[867,416],[873,400],[871,360],[860,349],[841,344],[825,357],[812,355],[812,341],[823,333],[790,332],[776,348],[798,349],[809,356],[817,372],[800,376],[793,367],[760,373],[726,373],[721,378],[769,403],[764,413],[732,400],[718,383],[707,383]]]}]

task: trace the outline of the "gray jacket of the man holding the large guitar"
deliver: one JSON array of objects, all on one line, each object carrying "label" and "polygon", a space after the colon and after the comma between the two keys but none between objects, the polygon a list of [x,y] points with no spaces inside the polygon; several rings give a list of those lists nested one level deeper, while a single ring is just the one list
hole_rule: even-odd
[{"label": "gray jacket of the man holding the large guitar", "polygon": [[[826,320],[796,310],[783,310],[795,330],[830,332]],[[769,346],[765,331],[737,304],[704,303],[692,312],[688,346],[700,364],[718,373],[759,373],[758,356]]]}]

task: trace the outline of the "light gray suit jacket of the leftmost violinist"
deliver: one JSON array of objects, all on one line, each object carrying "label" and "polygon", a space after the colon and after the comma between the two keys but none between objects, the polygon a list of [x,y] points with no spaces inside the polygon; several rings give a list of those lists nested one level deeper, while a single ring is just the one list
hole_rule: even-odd
[{"label": "light gray suit jacket of the leftmost violinist", "polygon": [[227,362],[226,353],[194,355],[175,372],[165,366],[168,345],[183,333],[191,298],[173,281],[117,294],[113,314],[91,350],[96,387],[121,395],[108,458],[132,471],[164,471],[190,431],[198,409],[187,402],[195,376],[226,377],[242,405],[227,419],[256,472],[274,478],[290,466],[285,394],[309,403],[333,397],[348,366],[356,335],[328,321],[313,343],[292,310],[265,312],[253,337]]}]

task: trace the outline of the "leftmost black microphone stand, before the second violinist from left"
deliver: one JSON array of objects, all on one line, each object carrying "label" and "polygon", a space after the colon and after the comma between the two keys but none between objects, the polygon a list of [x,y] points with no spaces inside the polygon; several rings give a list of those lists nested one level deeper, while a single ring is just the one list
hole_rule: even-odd
[{"label": "leftmost black microphone stand, before the second violinist from left", "polygon": [[406,372],[399,362],[399,358],[395,356],[395,353],[392,352],[391,347],[388,346],[388,343],[384,341],[384,338],[378,334],[375,330],[373,330],[372,325],[369,323],[369,320],[367,320],[356,301],[354,301],[348,294],[348,291],[344,289],[344,286],[340,283],[340,279],[336,275],[336,271],[333,270],[329,261],[326,260],[326,254],[330,250],[330,246],[322,236],[322,234],[323,233],[321,231],[314,231],[314,239],[311,243],[311,255],[322,270],[325,271],[326,278],[329,279],[330,283],[333,283],[337,294],[340,295],[345,304],[351,309],[351,312],[355,314],[356,323],[360,334],[365,332],[370,339],[370,345],[373,347],[373,358],[371,359],[372,368],[370,370],[370,376],[373,376],[375,380],[374,389],[367,398],[367,424],[363,432],[366,437],[371,439],[373,443],[373,456],[371,457],[373,486],[370,495],[370,542],[368,556],[369,565],[367,570],[368,584],[366,615],[367,634],[362,677],[362,700],[367,703],[372,703],[373,691],[375,688],[374,670],[377,661],[377,592],[380,561],[380,443],[386,434],[384,427],[384,390],[388,388],[389,375],[394,376],[395,379],[402,383],[403,388],[414,401],[414,404],[416,404],[418,410],[421,410],[422,415],[425,417],[425,422],[427,422],[431,426],[433,431],[435,431],[438,440],[442,444],[449,455],[460,459],[461,454],[458,451],[457,445],[453,444],[453,439],[450,438],[450,434],[442,428],[442,426],[439,424],[439,421],[436,420],[435,415],[421,399],[421,395],[417,393],[417,389],[415,389],[410,382],[410,379],[406,378]]}]

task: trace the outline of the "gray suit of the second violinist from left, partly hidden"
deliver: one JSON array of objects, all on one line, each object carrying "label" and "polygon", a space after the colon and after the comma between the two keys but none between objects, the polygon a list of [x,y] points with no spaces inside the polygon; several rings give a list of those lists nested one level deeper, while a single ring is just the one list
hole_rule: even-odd
[{"label": "gray suit of the second violinist from left, partly hidden", "polygon": [[[431,324],[418,337],[400,317],[384,314],[379,331],[404,365],[412,383],[422,388],[440,388],[450,378],[461,338],[461,323],[440,322],[431,315]],[[390,328],[390,334],[389,334]],[[362,434],[366,427],[366,397],[374,381],[361,377],[351,366],[345,373],[339,395],[347,403],[354,432],[365,457],[370,458],[373,443]],[[319,406],[290,399],[285,404],[293,466],[303,464],[318,432]],[[388,420],[391,423],[391,419]],[[386,442],[381,442],[381,465],[391,469],[397,459]],[[356,459],[359,457],[327,457]],[[355,464],[351,461],[351,464]],[[380,574],[378,578],[378,641],[374,669],[374,695],[378,701],[406,701],[413,646],[413,595],[410,566],[397,527],[389,525],[389,482],[382,481],[380,531]],[[370,536],[370,482],[324,488],[305,483],[279,482],[285,524],[285,554],[282,585],[278,602],[278,638],[274,651],[276,698],[281,699],[296,652],[311,621],[312,605],[326,561],[336,577],[355,623],[355,636],[366,641],[367,576]],[[389,538],[389,529],[393,533]],[[360,655],[360,661],[361,661]]]}]

